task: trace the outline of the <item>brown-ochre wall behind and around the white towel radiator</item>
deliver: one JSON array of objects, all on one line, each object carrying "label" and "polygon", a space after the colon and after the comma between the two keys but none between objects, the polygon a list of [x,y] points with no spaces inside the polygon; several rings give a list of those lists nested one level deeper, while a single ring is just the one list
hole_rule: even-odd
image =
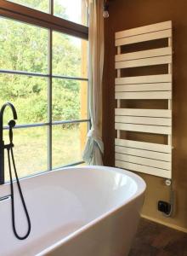
[{"label": "brown-ochre wall behind and around the white towel radiator", "polygon": [[[143,215],[187,231],[187,1],[113,0],[105,20],[105,74],[103,90],[103,139],[105,165],[114,166],[114,55],[115,32],[161,21],[173,20],[173,188],[176,205],[173,218],[156,209],[158,200],[169,198],[161,177],[139,174],[147,183]],[[160,138],[158,138],[160,139]]]}]

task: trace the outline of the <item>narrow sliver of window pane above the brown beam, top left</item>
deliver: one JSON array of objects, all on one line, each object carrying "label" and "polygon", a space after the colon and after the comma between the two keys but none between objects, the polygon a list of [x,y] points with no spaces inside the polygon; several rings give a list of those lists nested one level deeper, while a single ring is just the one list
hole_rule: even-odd
[{"label": "narrow sliver of window pane above the brown beam, top left", "polygon": [[9,2],[19,3],[32,9],[37,9],[42,12],[49,12],[49,1],[48,0],[8,0]]}]

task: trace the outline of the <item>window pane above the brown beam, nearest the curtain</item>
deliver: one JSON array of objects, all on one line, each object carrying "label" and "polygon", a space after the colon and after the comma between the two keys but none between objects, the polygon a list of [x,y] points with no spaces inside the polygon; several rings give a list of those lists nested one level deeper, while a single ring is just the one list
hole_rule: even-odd
[{"label": "window pane above the brown beam, nearest the curtain", "polygon": [[87,26],[85,0],[54,0],[54,15]]}]

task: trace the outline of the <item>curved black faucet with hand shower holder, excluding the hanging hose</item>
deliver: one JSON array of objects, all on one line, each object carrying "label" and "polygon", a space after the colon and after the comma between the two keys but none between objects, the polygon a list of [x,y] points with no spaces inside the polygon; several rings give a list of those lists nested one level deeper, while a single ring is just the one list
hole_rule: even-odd
[{"label": "curved black faucet with hand shower holder, excluding the hanging hose", "polygon": [[[4,149],[8,148],[8,146],[13,147],[13,143],[10,142],[9,145],[4,145],[4,141],[3,141],[3,113],[4,113],[4,109],[9,106],[12,110],[13,113],[13,118],[17,119],[17,113],[16,110],[14,108],[14,105],[10,102],[6,102],[3,104],[3,107],[1,108],[0,111],[0,184],[4,183]],[[14,127],[15,122],[14,120],[11,120],[8,125],[11,127]]]}]

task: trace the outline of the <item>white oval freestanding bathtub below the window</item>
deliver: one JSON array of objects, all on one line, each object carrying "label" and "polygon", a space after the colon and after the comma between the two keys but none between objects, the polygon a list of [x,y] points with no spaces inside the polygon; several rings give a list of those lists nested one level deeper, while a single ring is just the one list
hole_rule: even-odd
[{"label": "white oval freestanding bathtub below the window", "polygon": [[[121,169],[70,167],[20,181],[31,217],[31,234],[18,240],[10,198],[0,201],[0,255],[126,256],[144,201],[142,178]],[[16,188],[14,183],[14,188]],[[15,190],[16,227],[26,217]],[[9,184],[0,186],[0,197]]]}]

